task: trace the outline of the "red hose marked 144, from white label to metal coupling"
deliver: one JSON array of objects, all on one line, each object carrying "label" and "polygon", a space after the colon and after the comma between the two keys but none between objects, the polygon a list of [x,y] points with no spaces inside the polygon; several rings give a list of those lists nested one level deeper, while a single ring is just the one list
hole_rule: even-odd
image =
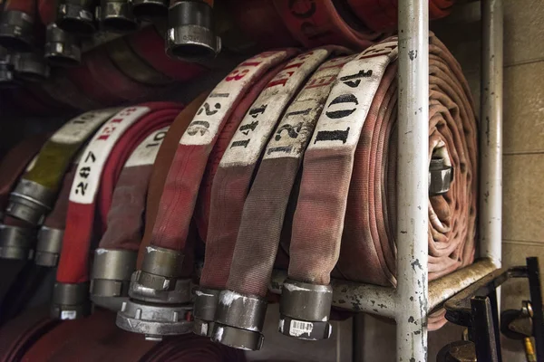
[{"label": "red hose marked 144, from white label to metal coupling", "polygon": [[[227,284],[231,251],[236,243],[244,200],[257,161],[267,138],[276,127],[277,120],[306,78],[321,62],[325,62],[334,50],[316,49],[288,62],[254,101],[221,158],[211,189],[206,258],[200,278],[201,288],[196,299],[195,331],[198,334],[209,334],[213,340],[228,346],[240,343],[236,329],[234,333],[229,333],[232,328],[229,329],[227,326],[238,326],[245,321],[225,319],[227,316],[221,313],[221,306],[217,312],[215,309],[218,303],[222,304],[219,301],[222,298],[219,291],[225,289]],[[245,302],[248,303],[248,308],[256,304],[256,300]],[[210,323],[214,320],[214,315],[216,324],[212,330]],[[256,325],[262,328],[259,321]],[[262,337],[257,333],[256,338],[250,341],[245,338],[244,342],[247,348],[255,349],[262,343]]]}]

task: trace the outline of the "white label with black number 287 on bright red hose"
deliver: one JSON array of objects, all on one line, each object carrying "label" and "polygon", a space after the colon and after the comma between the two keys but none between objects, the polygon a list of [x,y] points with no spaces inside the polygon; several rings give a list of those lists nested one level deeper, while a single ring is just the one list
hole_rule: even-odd
[{"label": "white label with black number 287 on bright red hose", "polygon": [[92,204],[100,186],[102,169],[113,146],[132,124],[149,111],[148,107],[125,108],[115,114],[96,132],[83,151],[73,179],[70,201],[78,204]]}]

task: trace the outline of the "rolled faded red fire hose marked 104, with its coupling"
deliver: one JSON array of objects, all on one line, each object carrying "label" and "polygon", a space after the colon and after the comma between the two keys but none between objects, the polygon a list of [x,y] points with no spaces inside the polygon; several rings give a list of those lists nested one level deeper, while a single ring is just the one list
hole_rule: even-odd
[{"label": "rolled faded red fire hose marked 104, with its coupling", "polygon": [[[396,53],[392,38],[345,65],[306,149],[280,302],[279,329],[287,336],[330,336],[329,281],[339,254],[346,279],[396,283]],[[477,153],[461,67],[434,36],[430,54],[430,176],[435,161],[454,169],[449,190],[434,194],[430,186],[433,280],[473,260]]]}]

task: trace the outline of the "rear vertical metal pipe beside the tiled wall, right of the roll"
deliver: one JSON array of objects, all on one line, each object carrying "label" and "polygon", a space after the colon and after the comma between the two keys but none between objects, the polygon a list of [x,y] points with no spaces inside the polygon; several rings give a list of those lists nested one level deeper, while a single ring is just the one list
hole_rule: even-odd
[{"label": "rear vertical metal pipe beside the tiled wall, right of the roll", "polygon": [[502,0],[481,1],[480,256],[502,251]]}]

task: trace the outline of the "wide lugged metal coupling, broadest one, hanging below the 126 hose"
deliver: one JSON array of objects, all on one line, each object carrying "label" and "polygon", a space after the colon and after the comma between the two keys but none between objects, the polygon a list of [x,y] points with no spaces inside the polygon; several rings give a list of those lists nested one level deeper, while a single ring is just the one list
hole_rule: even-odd
[{"label": "wide lugged metal coupling, broadest one, hanging below the 126 hose", "polygon": [[117,312],[117,327],[145,335],[147,340],[162,336],[190,333],[192,330],[190,304],[157,305],[139,300],[125,301]]}]

